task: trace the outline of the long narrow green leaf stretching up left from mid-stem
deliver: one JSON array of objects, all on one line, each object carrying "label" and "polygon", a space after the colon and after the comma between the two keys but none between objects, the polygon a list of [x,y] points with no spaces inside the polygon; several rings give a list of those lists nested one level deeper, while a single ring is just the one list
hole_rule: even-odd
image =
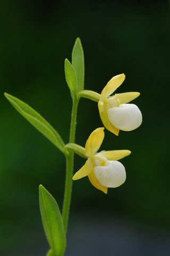
[{"label": "long narrow green leaf stretching up left from mid-stem", "polygon": [[12,106],[19,111],[37,130],[47,139],[49,139],[58,149],[64,153],[64,142],[57,131],[33,108],[29,107],[23,101],[5,93],[5,97],[12,104]]}]

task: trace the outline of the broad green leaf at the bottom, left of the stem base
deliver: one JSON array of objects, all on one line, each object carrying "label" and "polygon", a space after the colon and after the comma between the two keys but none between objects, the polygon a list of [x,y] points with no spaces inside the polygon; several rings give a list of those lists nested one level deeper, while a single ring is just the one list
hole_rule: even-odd
[{"label": "broad green leaf at the bottom, left of the stem base", "polygon": [[[42,185],[39,186],[39,204],[43,227],[50,248],[56,256],[61,256],[66,246],[62,216],[54,197]],[[53,255],[52,252],[50,253],[49,255]]]}]

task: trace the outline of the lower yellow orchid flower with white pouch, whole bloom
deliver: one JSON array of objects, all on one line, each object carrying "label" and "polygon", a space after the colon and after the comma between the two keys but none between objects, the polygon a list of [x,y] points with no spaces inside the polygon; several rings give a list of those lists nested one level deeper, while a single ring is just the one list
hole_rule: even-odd
[{"label": "lower yellow orchid flower with white pouch, whole bloom", "polygon": [[126,179],[125,168],[117,160],[130,155],[131,151],[113,150],[96,153],[104,136],[104,127],[97,128],[90,134],[85,146],[85,154],[88,159],[83,167],[74,174],[73,180],[88,175],[92,185],[107,194],[107,188],[116,188],[124,183]]}]

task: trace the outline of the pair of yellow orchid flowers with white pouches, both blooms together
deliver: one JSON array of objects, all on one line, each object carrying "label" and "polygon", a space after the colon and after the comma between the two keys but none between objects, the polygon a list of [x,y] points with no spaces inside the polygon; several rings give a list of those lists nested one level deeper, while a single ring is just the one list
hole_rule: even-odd
[{"label": "pair of yellow orchid flowers with white pouches, both blooms together", "polygon": [[[134,104],[127,104],[137,98],[139,92],[127,92],[110,96],[120,86],[125,75],[114,76],[104,87],[98,102],[100,118],[107,130],[118,135],[120,130],[132,131],[142,123],[142,114]],[[88,175],[92,185],[107,194],[107,188],[121,186],[126,179],[125,167],[117,160],[131,154],[130,150],[97,150],[104,140],[104,127],[93,131],[85,146],[86,163],[74,174],[73,180]]]}]

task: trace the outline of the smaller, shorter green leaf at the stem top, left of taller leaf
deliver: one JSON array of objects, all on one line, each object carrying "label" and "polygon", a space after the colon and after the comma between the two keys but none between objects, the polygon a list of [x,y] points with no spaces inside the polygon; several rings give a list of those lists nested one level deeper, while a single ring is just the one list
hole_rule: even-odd
[{"label": "smaller, shorter green leaf at the stem top, left of taller leaf", "polygon": [[70,61],[67,59],[65,59],[64,68],[65,68],[65,78],[67,81],[67,85],[69,86],[70,91],[74,95],[77,95],[77,78],[75,75],[75,70],[71,65]]}]

